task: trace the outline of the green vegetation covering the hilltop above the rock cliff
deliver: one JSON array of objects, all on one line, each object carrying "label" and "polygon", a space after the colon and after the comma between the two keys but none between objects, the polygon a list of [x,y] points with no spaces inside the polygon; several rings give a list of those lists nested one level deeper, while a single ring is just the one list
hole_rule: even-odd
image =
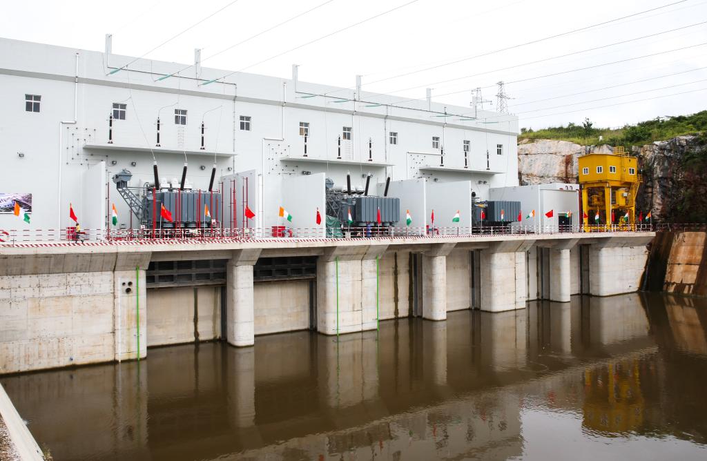
[{"label": "green vegetation covering the hilltop above the rock cliff", "polygon": [[[609,144],[611,146],[636,146],[649,144],[653,141],[664,141],[684,134],[700,134],[706,136],[707,110],[693,115],[678,115],[676,117],[656,117],[653,120],[626,125],[619,129],[595,128],[590,119],[583,124],[570,123],[566,127],[550,127],[534,132],[532,128],[521,128],[521,139],[558,139],[570,141],[584,146],[592,144]],[[602,141],[599,140],[602,136]]]}]

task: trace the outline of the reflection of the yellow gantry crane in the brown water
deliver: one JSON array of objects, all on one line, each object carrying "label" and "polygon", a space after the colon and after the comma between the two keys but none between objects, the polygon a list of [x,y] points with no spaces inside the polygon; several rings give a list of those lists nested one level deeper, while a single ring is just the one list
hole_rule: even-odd
[{"label": "reflection of the yellow gantry crane in the brown water", "polygon": [[645,402],[638,358],[609,361],[584,375],[583,425],[605,433],[636,431]]}]

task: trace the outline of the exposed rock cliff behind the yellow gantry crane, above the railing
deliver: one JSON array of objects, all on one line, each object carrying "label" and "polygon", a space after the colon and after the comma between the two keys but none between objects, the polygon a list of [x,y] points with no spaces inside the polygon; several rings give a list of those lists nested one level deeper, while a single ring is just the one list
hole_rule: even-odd
[{"label": "exposed rock cliff behind the yellow gantry crane, above the railing", "polygon": [[[521,185],[576,183],[578,158],[587,153],[611,153],[607,145],[580,146],[568,141],[521,141],[518,180]],[[704,136],[678,136],[645,146],[633,146],[643,185],[636,206],[653,222],[707,222],[707,141]]]}]

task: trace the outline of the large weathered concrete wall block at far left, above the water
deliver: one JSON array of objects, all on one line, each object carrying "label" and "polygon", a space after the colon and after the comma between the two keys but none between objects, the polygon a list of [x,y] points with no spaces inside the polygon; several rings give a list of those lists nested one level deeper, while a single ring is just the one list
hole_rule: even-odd
[{"label": "large weathered concrete wall block at far left, above the water", "polygon": [[0,373],[111,361],[113,273],[0,276]]}]

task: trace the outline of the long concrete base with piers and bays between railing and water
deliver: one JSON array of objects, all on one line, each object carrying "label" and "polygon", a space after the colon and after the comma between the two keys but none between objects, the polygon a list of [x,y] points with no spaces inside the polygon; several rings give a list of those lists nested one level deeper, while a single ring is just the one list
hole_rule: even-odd
[{"label": "long concrete base with piers and bays between railing and water", "polygon": [[308,327],[332,335],[373,330],[391,318],[442,321],[474,303],[498,313],[525,308],[529,299],[567,302],[580,286],[594,296],[630,293],[638,290],[652,238],[624,232],[3,246],[0,373],[146,358],[150,345],[223,338],[252,346],[256,334]]}]

